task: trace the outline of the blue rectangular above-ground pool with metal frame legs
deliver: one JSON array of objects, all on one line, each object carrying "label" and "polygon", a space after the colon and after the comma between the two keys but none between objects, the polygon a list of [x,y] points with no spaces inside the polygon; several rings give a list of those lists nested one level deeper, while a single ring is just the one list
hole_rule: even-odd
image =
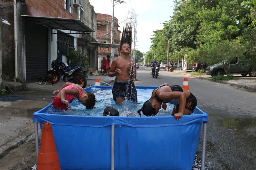
[{"label": "blue rectangular above-ground pool with metal frame legs", "polygon": [[[94,88],[97,91],[112,89],[111,86],[91,86],[85,91],[94,91]],[[145,89],[151,94],[156,87],[136,88],[138,94]],[[208,117],[198,107],[192,115],[183,115],[178,121],[174,116],[51,114],[47,112],[49,107],[52,104],[35,112],[33,120],[41,127],[43,122],[52,124],[62,170],[191,170],[201,125]]]}]

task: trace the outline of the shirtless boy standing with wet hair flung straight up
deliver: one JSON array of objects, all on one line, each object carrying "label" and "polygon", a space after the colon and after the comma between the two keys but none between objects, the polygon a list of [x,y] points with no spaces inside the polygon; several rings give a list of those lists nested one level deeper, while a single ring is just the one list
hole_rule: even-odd
[{"label": "shirtless boy standing with wet hair flung straight up", "polygon": [[133,82],[136,79],[136,62],[130,58],[132,44],[132,26],[126,24],[120,43],[120,57],[113,60],[109,76],[116,76],[112,89],[116,103],[131,100],[137,103],[137,90]]}]

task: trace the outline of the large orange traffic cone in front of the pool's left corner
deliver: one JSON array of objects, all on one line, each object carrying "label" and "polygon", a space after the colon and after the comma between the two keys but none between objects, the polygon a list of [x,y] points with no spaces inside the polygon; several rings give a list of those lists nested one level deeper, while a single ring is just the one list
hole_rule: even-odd
[{"label": "large orange traffic cone in front of the pool's left corner", "polygon": [[60,170],[58,153],[53,138],[52,125],[48,122],[43,123],[36,169]]}]

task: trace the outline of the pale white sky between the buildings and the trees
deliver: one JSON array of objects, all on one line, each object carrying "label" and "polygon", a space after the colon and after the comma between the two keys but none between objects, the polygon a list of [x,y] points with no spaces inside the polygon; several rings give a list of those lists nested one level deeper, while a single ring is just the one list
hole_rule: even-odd
[{"label": "pale white sky between the buildings and the trees", "polygon": [[[163,29],[165,21],[170,20],[173,15],[173,0],[123,0],[125,3],[116,3],[114,6],[114,16],[118,19],[120,27],[118,30],[123,31],[122,22],[131,18],[129,11],[135,11],[137,14],[137,42],[136,49],[140,52],[149,51],[153,31]],[[112,0],[90,0],[96,13],[113,14]],[[129,21],[129,20],[128,20]],[[121,23],[122,22],[122,23]]]}]

